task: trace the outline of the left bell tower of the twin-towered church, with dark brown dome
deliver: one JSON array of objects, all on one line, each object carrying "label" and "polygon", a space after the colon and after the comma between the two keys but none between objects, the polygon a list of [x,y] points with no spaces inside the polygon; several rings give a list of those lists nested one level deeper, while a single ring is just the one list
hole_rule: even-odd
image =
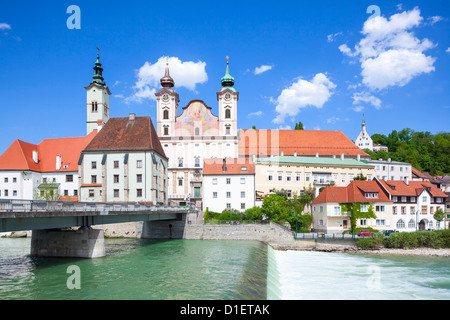
[{"label": "left bell tower of the twin-towered church, with dark brown dome", "polygon": [[178,116],[180,97],[172,88],[175,86],[169,72],[169,58],[166,58],[166,71],[160,80],[162,88],[155,93],[157,133],[159,137],[175,135],[175,120]]}]

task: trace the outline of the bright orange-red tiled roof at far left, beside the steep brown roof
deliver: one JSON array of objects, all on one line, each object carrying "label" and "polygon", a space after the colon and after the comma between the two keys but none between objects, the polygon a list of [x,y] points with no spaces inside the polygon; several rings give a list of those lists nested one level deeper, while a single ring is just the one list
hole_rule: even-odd
[{"label": "bright orange-red tiled roof at far left, beside the steep brown roof", "polygon": [[[94,130],[85,137],[45,139],[37,145],[16,139],[0,156],[0,170],[78,171],[81,151],[96,134]],[[33,151],[38,153],[38,163],[33,160]],[[60,170],[56,170],[57,156],[61,156]]]}]

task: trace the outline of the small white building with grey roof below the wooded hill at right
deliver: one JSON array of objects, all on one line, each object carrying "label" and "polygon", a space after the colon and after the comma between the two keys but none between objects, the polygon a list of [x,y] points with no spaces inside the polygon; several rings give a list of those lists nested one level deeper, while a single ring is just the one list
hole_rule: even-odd
[{"label": "small white building with grey roof below the wooded hill at right", "polygon": [[369,160],[369,164],[375,166],[376,177],[382,180],[412,180],[412,166],[410,163],[385,160]]}]

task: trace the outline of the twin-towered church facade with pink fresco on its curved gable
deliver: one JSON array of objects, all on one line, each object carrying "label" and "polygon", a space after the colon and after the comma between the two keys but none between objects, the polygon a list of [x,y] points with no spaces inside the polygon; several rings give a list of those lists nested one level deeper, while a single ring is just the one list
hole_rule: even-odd
[{"label": "twin-towered church facade with pink fresco on its curved gable", "polygon": [[169,203],[187,202],[202,208],[204,159],[236,158],[238,147],[237,102],[228,61],[222,88],[217,92],[218,116],[202,100],[192,100],[180,110],[175,81],[166,65],[162,88],[155,94],[157,133],[169,158]]}]

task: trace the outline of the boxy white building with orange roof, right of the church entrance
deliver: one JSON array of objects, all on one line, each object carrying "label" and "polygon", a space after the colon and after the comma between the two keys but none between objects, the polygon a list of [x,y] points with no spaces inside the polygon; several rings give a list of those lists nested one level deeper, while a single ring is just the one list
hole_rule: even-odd
[{"label": "boxy white building with orange roof, right of the church entrance", "polygon": [[241,212],[255,206],[255,165],[243,158],[205,160],[203,207]]}]

